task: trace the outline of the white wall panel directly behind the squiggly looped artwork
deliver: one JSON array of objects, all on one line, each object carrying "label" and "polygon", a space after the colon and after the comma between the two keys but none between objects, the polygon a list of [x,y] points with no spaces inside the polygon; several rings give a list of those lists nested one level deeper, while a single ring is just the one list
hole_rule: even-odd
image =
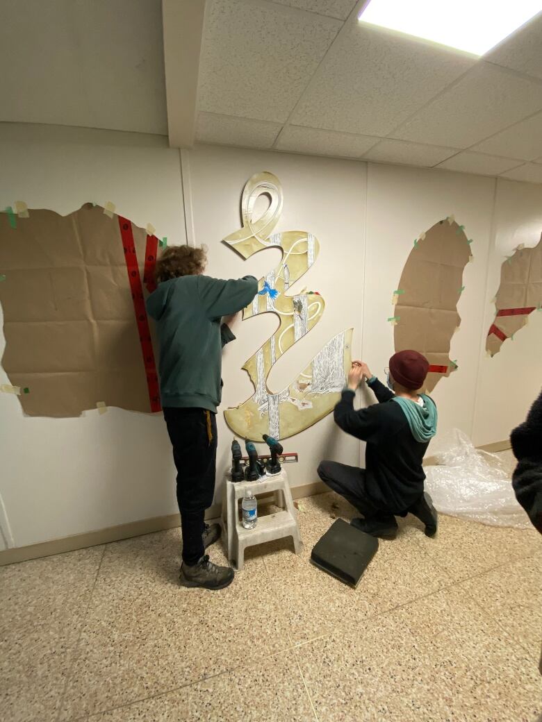
[{"label": "white wall panel directly behind the squiggly looped artwork", "polygon": [[[360,352],[365,166],[347,160],[218,147],[195,149],[189,162],[195,239],[209,247],[210,275],[261,277],[280,259],[280,251],[270,249],[245,261],[220,243],[241,227],[241,192],[251,175],[261,170],[275,173],[283,186],[283,214],[276,230],[307,230],[319,240],[320,253],[314,266],[292,288],[321,292],[326,302],[324,316],[280,358],[270,373],[270,390],[278,392],[291,383],[338,331],[353,327],[353,353]],[[277,325],[272,314],[236,324],[233,331],[237,340],[226,347],[223,358],[222,409],[236,406],[254,393],[241,367]],[[218,469],[225,469],[233,433],[225,425],[223,414],[218,417],[218,435]],[[299,453],[299,463],[288,466],[293,486],[317,481],[316,468],[322,458],[331,456],[345,464],[358,460],[358,443],[335,427],[331,414],[283,445],[285,451]]]}]

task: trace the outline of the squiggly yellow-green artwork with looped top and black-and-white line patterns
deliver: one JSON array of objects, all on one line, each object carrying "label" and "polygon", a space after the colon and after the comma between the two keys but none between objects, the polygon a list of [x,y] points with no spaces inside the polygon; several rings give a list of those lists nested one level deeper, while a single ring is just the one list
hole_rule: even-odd
[{"label": "squiggly yellow-green artwork with looped top and black-and-white line patterns", "polygon": [[[269,197],[270,206],[254,220],[254,204],[262,194]],[[283,190],[278,178],[272,173],[252,176],[241,199],[242,227],[224,239],[243,258],[265,248],[283,251],[280,264],[259,280],[259,293],[243,312],[243,318],[275,313],[280,326],[243,367],[254,384],[254,394],[225,411],[226,422],[237,435],[258,441],[262,434],[288,438],[329,414],[340,397],[351,365],[353,329],[348,329],[334,336],[287,388],[278,393],[267,388],[272,366],[318,323],[325,305],[318,293],[290,291],[316,263],[319,242],[308,231],[275,231],[282,208]]]}]

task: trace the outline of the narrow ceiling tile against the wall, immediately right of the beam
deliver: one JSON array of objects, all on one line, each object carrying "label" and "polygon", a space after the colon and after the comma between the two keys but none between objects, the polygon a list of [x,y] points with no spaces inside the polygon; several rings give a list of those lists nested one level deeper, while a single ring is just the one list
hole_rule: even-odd
[{"label": "narrow ceiling tile against the wall, immediately right of the beam", "polygon": [[196,141],[244,148],[270,148],[281,128],[280,123],[199,113]]}]

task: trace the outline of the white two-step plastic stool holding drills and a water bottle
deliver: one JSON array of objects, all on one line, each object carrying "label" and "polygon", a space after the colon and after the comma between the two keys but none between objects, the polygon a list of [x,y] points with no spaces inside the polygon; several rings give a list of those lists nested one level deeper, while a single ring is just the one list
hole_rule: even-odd
[{"label": "white two-step plastic stool holding drills and a water bottle", "polygon": [[[250,489],[254,496],[275,492],[275,503],[277,506],[283,507],[283,511],[262,516],[262,518],[258,517],[254,529],[244,529],[239,520],[238,500],[244,497],[247,489]],[[255,544],[263,544],[264,541],[292,536],[293,547],[296,549],[296,554],[299,554],[301,537],[296,516],[288,474],[284,469],[280,471],[280,474],[262,477],[257,482],[232,482],[231,474],[226,474],[222,518],[228,530],[228,560],[232,565],[233,562],[236,562],[238,570],[244,567],[246,547],[254,547]]]}]

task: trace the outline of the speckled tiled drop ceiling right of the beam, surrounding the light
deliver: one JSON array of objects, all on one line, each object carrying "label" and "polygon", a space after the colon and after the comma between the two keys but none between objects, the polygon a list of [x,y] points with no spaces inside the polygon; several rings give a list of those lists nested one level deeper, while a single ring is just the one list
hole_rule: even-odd
[{"label": "speckled tiled drop ceiling right of the beam, surrounding the light", "polygon": [[[524,168],[522,173],[529,179],[537,175],[536,168],[525,168],[534,165],[525,164],[526,160],[542,160],[542,84],[535,77],[536,31],[525,28],[490,53],[488,61],[476,61],[445,48],[359,26],[353,22],[354,13],[344,25],[332,19],[333,32],[318,35],[315,19],[321,31],[319,22],[327,22],[323,15],[343,18],[356,6],[352,0],[340,3],[340,9],[338,5],[331,0],[213,0],[212,8],[219,13],[215,26],[223,26],[223,14],[228,14],[228,27],[221,32],[231,38],[223,62],[229,77],[226,82],[215,78],[215,86],[221,87],[223,96],[228,96],[232,82],[244,87],[246,63],[252,81],[241,93],[248,100],[246,108],[236,105],[232,110],[231,97],[229,104],[217,107],[207,94],[207,105],[204,108],[200,103],[200,110],[210,112],[200,113],[198,140],[486,175],[516,170],[520,175]],[[292,8],[301,12],[290,14]],[[238,27],[232,38],[231,24],[236,24],[239,13],[243,15],[242,29]],[[270,13],[278,21],[278,34],[270,32]],[[310,64],[305,64],[296,74],[298,65],[292,74],[289,62],[280,65],[284,31],[288,45],[295,32],[306,27],[320,39],[325,36],[327,45],[318,46],[317,62],[310,69]],[[217,56],[223,56],[223,36],[213,37],[208,32],[206,29],[207,42],[215,44]],[[525,32],[531,38],[526,48],[522,44]],[[538,25],[538,34],[541,32]],[[302,36],[305,40],[306,35]],[[267,71],[282,81],[277,87],[281,98],[271,112],[263,112],[269,97],[267,84],[262,82],[267,75],[259,65],[252,69],[254,49],[241,48],[241,72],[231,64],[232,51],[246,37],[267,40],[264,66],[269,64]],[[203,64],[202,85],[208,71],[209,66]],[[243,124],[237,121],[240,117]]]}]

